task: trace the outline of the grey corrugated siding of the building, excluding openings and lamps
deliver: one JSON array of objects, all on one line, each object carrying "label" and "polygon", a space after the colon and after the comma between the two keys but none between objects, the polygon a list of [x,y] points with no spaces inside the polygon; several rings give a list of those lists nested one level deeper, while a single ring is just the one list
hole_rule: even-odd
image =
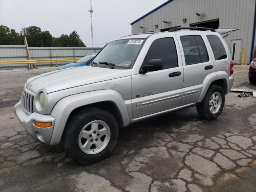
[{"label": "grey corrugated siding of the building, excluding openings and lamps", "polygon": [[[193,23],[220,19],[219,28],[240,28],[224,39],[229,48],[231,40],[242,39],[242,47],[246,50],[245,63],[250,63],[255,6],[255,0],[173,0],[133,24],[132,34],[160,32],[164,28],[187,27]],[[204,13],[204,18],[196,16],[195,13]],[[186,23],[182,22],[183,18],[187,19]],[[165,24],[163,20],[171,22]],[[157,29],[154,27],[156,24]],[[139,26],[146,28],[141,29]]]}]

